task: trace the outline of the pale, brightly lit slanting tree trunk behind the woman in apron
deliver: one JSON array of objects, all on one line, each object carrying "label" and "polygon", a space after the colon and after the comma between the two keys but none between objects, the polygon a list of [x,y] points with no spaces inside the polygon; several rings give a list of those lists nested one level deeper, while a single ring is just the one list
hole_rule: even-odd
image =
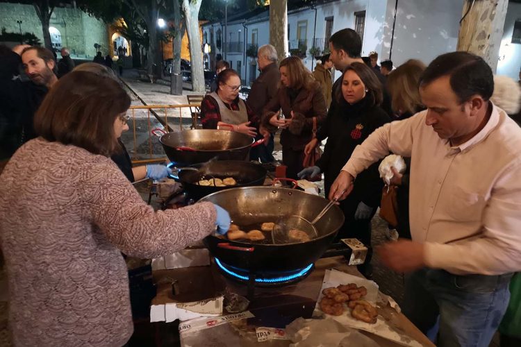
[{"label": "pale, brightly lit slanting tree trunk behind the woman in apron", "polygon": [[192,63],[192,90],[206,92],[204,85],[203,53],[201,51],[201,37],[199,35],[199,8],[201,0],[183,0],[186,31],[190,46],[190,61]]}]

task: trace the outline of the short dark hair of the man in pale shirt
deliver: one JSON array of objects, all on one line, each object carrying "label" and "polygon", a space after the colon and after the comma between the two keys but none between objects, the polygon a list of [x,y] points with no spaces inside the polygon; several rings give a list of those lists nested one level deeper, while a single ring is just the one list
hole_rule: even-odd
[{"label": "short dark hair of the man in pale shirt", "polygon": [[483,58],[472,53],[452,52],[438,56],[422,74],[420,87],[443,76],[450,76],[450,87],[460,103],[475,94],[488,101],[494,92],[492,69]]}]

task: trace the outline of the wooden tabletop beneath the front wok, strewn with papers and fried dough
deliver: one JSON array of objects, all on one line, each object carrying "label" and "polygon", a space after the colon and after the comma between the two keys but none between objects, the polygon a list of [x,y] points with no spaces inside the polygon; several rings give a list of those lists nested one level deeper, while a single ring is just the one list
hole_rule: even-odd
[{"label": "wooden tabletop beneath the front wok, strewn with papers and fried dough", "polygon": [[[255,328],[260,326],[283,328],[299,316],[311,317],[326,269],[336,269],[362,277],[356,270],[356,266],[347,265],[344,257],[322,258],[315,263],[315,269],[308,277],[300,282],[277,288],[256,287],[254,300],[248,308],[256,318],[235,321],[233,324],[220,325],[194,334],[197,334],[201,341],[205,341],[206,346],[210,346],[208,344],[210,340],[214,346],[236,344],[238,344],[236,346],[288,346],[289,341],[282,340],[257,342]],[[247,294],[246,285],[224,277],[215,263],[212,266],[154,271],[156,282],[161,279],[164,281],[165,278],[174,281],[174,289],[172,290],[172,286],[168,283],[159,285],[157,296],[152,304],[199,301],[222,294],[224,290],[242,296]],[[423,346],[434,346],[411,321],[391,307],[379,307],[379,314],[404,335],[412,337]],[[399,346],[368,332],[362,333],[371,337],[379,346]]]}]

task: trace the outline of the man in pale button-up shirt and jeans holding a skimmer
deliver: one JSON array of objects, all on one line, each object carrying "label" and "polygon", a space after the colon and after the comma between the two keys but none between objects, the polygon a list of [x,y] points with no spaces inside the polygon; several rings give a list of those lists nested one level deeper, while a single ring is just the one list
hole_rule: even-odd
[{"label": "man in pale button-up shirt and jeans holding a skimmer", "polygon": [[409,273],[404,313],[440,346],[488,346],[521,270],[521,128],[489,101],[493,74],[465,52],[439,56],[420,83],[427,110],[377,129],[329,198],[389,152],[411,157],[412,241],[380,250]]}]

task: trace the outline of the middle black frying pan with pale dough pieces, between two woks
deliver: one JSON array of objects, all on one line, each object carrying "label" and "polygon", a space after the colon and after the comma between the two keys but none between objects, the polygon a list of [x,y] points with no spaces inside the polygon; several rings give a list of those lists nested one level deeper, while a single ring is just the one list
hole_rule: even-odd
[{"label": "middle black frying pan with pale dough pieces, between two woks", "polygon": [[[240,160],[219,160],[206,164],[204,173],[200,173],[199,169],[204,164],[194,164],[189,168],[181,168],[174,171],[172,178],[183,184],[183,188],[190,198],[195,201],[203,196],[220,192],[224,189],[235,187],[247,187],[253,185],[263,185],[266,179],[267,171],[261,165]],[[193,169],[192,169],[193,168]],[[228,178],[231,177],[237,181],[237,185],[226,187],[212,187],[199,185],[199,180],[211,178]]]}]

